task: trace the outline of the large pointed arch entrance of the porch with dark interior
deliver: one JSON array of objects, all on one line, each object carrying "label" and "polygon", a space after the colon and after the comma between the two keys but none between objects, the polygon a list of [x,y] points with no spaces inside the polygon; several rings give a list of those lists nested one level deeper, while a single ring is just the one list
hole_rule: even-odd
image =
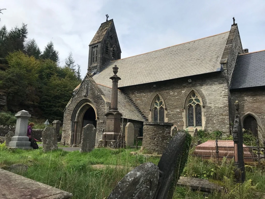
[{"label": "large pointed arch entrance of the porch with dark interior", "polygon": [[78,147],[81,143],[82,130],[87,124],[93,124],[97,128],[97,114],[94,106],[86,102],[79,107],[74,116],[74,124],[72,126],[71,145]]}]

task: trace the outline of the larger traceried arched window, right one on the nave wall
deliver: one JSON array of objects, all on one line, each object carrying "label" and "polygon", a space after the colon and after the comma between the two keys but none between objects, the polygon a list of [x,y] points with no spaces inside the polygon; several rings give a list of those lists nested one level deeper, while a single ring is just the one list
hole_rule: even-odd
[{"label": "larger traceried arched window, right one on the nave wall", "polygon": [[202,103],[196,93],[192,93],[187,102],[187,126],[202,126]]}]

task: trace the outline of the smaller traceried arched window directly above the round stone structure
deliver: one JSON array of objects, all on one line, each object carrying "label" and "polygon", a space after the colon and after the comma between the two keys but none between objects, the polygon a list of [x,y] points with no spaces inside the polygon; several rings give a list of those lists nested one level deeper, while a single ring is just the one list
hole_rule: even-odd
[{"label": "smaller traceried arched window directly above the round stone structure", "polygon": [[165,105],[160,96],[156,97],[152,106],[153,122],[165,122]]}]

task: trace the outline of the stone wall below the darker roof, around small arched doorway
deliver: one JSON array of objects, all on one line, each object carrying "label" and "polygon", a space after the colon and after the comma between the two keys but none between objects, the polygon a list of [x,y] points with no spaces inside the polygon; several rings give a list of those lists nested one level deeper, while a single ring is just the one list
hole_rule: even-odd
[{"label": "stone wall below the darker roof, around small arched doorway", "polygon": [[[239,102],[239,112],[240,116],[244,116],[248,111],[255,114],[252,116],[257,116],[260,120],[258,124],[261,126],[259,130],[259,136],[265,138],[264,135],[264,128],[265,128],[265,88],[251,88],[250,89],[241,89],[241,90],[232,90],[231,91],[231,98],[233,104],[237,100]],[[235,107],[232,108],[232,117],[235,119]],[[234,122],[234,121],[233,121]],[[243,122],[243,121],[241,121]],[[233,126],[232,126],[233,127]],[[263,132],[262,132],[263,131]],[[262,135],[261,135],[262,134]],[[262,138],[262,139],[263,139]]]}]

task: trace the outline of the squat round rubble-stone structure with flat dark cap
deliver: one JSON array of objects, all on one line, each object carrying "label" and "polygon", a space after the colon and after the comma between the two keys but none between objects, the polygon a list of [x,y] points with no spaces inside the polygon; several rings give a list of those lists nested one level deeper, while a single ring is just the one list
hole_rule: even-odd
[{"label": "squat round rubble-stone structure with flat dark cap", "polygon": [[171,139],[172,126],[169,122],[144,122],[142,148],[162,154]]}]

